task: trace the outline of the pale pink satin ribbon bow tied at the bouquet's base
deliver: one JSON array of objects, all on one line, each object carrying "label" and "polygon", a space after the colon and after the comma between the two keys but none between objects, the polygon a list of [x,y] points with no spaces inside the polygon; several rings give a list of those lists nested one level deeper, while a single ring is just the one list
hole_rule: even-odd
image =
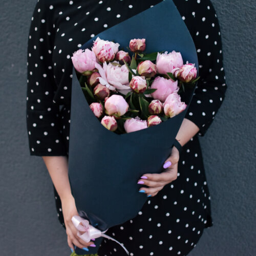
[{"label": "pale pink satin ribbon bow tied at the bouquet's base", "polygon": [[110,240],[115,241],[120,246],[122,246],[122,248],[125,250],[125,252],[129,255],[129,251],[121,243],[119,243],[114,238],[104,234],[108,229],[106,229],[105,231],[100,231],[99,229],[90,225],[88,220],[83,219],[83,218],[81,218],[80,216],[77,216],[77,215],[73,216],[71,220],[72,220],[74,226],[77,229],[77,236],[79,238],[81,238],[84,242],[88,243],[88,242],[91,241],[91,239],[96,239],[96,238],[99,238],[99,237],[108,238]]}]

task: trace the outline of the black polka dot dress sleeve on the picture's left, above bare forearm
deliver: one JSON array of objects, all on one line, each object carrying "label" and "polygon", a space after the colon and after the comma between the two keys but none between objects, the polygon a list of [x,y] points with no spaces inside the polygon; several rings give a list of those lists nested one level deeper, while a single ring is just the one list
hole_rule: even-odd
[{"label": "black polka dot dress sleeve on the picture's left, above bare forearm", "polygon": [[59,105],[53,98],[57,89],[53,74],[53,7],[36,3],[27,49],[27,132],[30,155],[65,156],[59,129]]}]

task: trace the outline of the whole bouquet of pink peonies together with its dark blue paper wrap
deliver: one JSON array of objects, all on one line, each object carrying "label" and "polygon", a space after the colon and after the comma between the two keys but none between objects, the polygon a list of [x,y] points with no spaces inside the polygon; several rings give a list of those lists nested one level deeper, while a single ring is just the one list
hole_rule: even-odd
[{"label": "whole bouquet of pink peonies together with its dark blue paper wrap", "polygon": [[102,236],[146,202],[135,181],[163,171],[197,85],[197,51],[165,0],[91,38],[72,61],[69,180],[78,214],[90,223],[83,229]]}]

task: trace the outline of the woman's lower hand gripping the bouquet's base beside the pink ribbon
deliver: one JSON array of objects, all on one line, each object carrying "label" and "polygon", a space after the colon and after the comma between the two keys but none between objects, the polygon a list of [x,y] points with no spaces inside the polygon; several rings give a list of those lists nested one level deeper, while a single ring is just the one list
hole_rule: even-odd
[{"label": "woman's lower hand gripping the bouquet's base beside the pink ribbon", "polygon": [[62,213],[64,217],[64,222],[66,226],[66,233],[68,236],[69,247],[74,251],[74,245],[80,249],[88,251],[88,246],[95,247],[93,242],[86,243],[77,236],[77,229],[75,228],[73,222],[71,221],[72,217],[78,215],[75,200],[71,195],[68,198],[61,199]]}]

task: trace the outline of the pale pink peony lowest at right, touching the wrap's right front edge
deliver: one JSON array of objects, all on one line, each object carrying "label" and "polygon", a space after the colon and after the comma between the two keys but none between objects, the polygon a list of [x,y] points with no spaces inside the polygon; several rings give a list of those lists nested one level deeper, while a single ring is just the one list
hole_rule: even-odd
[{"label": "pale pink peony lowest at right, touching the wrap's right front edge", "polygon": [[163,103],[164,114],[168,117],[174,117],[186,109],[185,102],[181,102],[178,93],[170,94]]}]

